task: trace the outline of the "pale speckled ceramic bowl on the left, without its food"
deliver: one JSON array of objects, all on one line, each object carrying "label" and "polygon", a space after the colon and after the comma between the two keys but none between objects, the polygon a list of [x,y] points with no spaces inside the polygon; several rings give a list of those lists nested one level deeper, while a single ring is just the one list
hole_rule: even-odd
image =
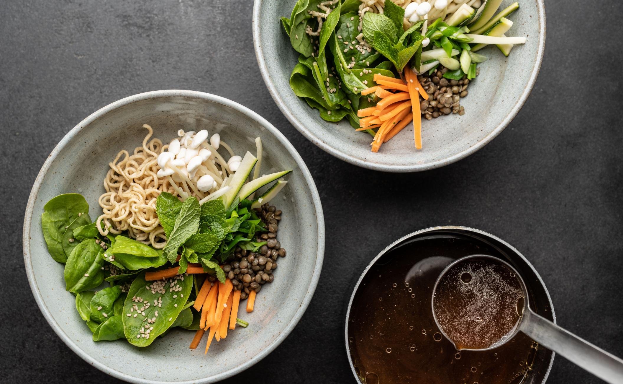
[{"label": "pale speckled ceramic bowl on the left, without its food", "polygon": [[[264,144],[262,171],[292,169],[288,185],[274,204],[283,211],[279,239],[288,255],[279,262],[275,281],[257,296],[255,310],[241,316],[237,328],[204,355],[190,350],[193,332],[172,330],[150,347],[125,340],[93,342],[65,291],[64,264],[49,256],[41,231],[44,204],[61,193],[82,193],[90,216],[100,214],[102,180],[121,149],[133,150],[148,123],[155,136],[168,141],[179,128],[221,133],[236,153]],[[37,176],[24,219],[24,264],[37,304],[52,329],[75,353],[114,377],[135,383],[213,383],[241,372],[268,355],[295,327],[312,299],[325,248],[325,224],[318,191],[294,147],[257,113],[231,100],[188,90],[161,90],[114,102],[75,126],[54,148]],[[43,319],[41,319],[43,320]]]}]

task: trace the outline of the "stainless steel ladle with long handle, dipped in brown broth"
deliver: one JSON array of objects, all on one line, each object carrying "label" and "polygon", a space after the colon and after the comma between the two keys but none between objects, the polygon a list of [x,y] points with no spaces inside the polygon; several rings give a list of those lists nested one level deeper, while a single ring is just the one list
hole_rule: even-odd
[{"label": "stainless steel ladle with long handle, dipped in brown broth", "polygon": [[[431,300],[433,316],[435,318],[435,324],[437,324],[440,332],[448,340],[450,340],[450,342],[454,344],[454,341],[448,337],[442,327],[440,327],[439,321],[437,320],[437,314],[435,314],[434,301],[439,299],[437,286],[447,272],[454,268],[460,267],[461,264],[464,264],[465,262],[473,261],[474,259],[493,259],[495,262],[505,264],[505,266],[515,274],[516,278],[520,282],[525,300],[523,300],[523,311],[520,311],[521,317],[519,323],[509,334],[502,337],[499,342],[494,343],[488,348],[471,350],[490,350],[500,347],[500,345],[507,343],[511,340],[511,338],[513,338],[513,336],[521,331],[544,347],[553,350],[570,362],[578,365],[578,367],[584,368],[588,372],[592,373],[596,377],[599,377],[611,384],[623,384],[623,360],[602,350],[601,348],[596,347],[595,345],[592,345],[571,332],[558,327],[558,325],[545,319],[545,317],[537,315],[530,309],[528,291],[521,275],[515,270],[515,268],[508,264],[508,262],[503,261],[498,257],[488,255],[470,255],[461,257],[460,259],[452,262],[449,266],[445,267],[444,271],[442,271],[439,277],[437,277]],[[459,310],[460,308],[456,309],[457,317]],[[466,349],[470,350],[468,348]]]}]

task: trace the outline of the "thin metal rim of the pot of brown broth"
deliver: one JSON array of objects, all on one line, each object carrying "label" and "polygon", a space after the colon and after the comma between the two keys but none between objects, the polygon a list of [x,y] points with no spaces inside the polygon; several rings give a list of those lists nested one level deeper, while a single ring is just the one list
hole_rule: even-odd
[{"label": "thin metal rim of the pot of brown broth", "polygon": [[[374,265],[374,263],[379,258],[381,258],[384,254],[386,254],[389,250],[391,250],[392,248],[396,247],[398,244],[401,244],[402,242],[404,242],[406,240],[412,239],[412,238],[414,238],[416,236],[419,236],[421,234],[434,233],[436,231],[464,231],[464,232],[467,232],[467,233],[475,233],[475,234],[479,234],[479,235],[485,236],[486,238],[490,238],[490,239],[493,239],[495,241],[498,241],[501,244],[504,244],[506,247],[508,247],[508,249],[510,249],[517,256],[519,256],[521,259],[523,259],[523,261],[526,263],[526,265],[528,265],[528,267],[530,267],[530,269],[532,269],[532,271],[535,273],[536,278],[541,283],[541,286],[543,286],[543,290],[545,290],[545,296],[547,297],[547,300],[549,302],[549,308],[551,309],[552,322],[554,324],[556,324],[556,311],[554,310],[554,304],[553,304],[553,302],[551,302],[551,296],[549,295],[549,290],[547,289],[547,286],[545,285],[545,282],[543,281],[543,278],[541,278],[541,275],[539,274],[539,272],[536,271],[535,266],[533,266],[532,263],[528,259],[526,259],[526,257],[523,256],[523,254],[520,251],[518,251],[518,249],[516,249],[515,247],[511,246],[511,244],[509,244],[508,242],[504,241],[503,239],[498,238],[494,234],[490,234],[490,233],[482,231],[480,229],[471,228],[471,227],[465,227],[465,226],[447,225],[447,226],[437,226],[437,227],[429,227],[429,228],[420,229],[419,231],[415,231],[415,232],[406,234],[406,235],[402,236],[401,238],[397,239],[396,241],[392,242],[388,246],[384,247],[383,250],[381,250],[381,252],[379,252],[376,256],[374,256],[374,259],[372,259],[368,263],[368,266],[366,266],[366,268],[361,272],[361,276],[359,276],[359,279],[357,279],[357,282],[354,284],[353,293],[351,293],[351,297],[348,300],[348,307],[346,307],[346,317],[345,317],[345,320],[344,320],[344,343],[345,343],[345,347],[346,347],[346,357],[348,357],[348,364],[350,365],[351,372],[353,372],[353,376],[354,376],[354,379],[356,380],[356,382],[359,382],[359,377],[357,376],[357,372],[355,372],[355,370],[354,370],[353,358],[351,357],[350,349],[348,348],[348,319],[350,318],[350,310],[351,310],[351,307],[353,306],[354,296],[357,293],[357,290],[359,289],[359,284],[361,284],[361,281],[363,281],[363,278],[366,276],[366,274],[368,274],[368,271]],[[541,383],[546,383],[547,382],[547,379],[549,377],[549,372],[551,371],[551,367],[554,364],[554,357],[556,357],[556,352],[552,351],[551,352],[551,358],[549,359],[549,364],[547,366],[547,370],[545,371],[545,376],[543,377],[543,382],[541,382]]]}]

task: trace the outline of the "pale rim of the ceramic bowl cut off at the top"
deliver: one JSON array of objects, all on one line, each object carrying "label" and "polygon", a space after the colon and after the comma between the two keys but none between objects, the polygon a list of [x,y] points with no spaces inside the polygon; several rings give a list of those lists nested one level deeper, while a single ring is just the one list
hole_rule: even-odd
[{"label": "pale rim of the ceramic bowl cut off at the top", "polygon": [[[454,163],[455,161],[459,161],[462,158],[465,158],[472,153],[480,150],[483,146],[487,145],[491,140],[493,140],[497,135],[499,135],[508,124],[515,118],[517,113],[523,107],[523,104],[528,99],[530,92],[532,91],[536,77],[539,74],[541,69],[541,63],[543,62],[543,52],[545,50],[545,34],[546,34],[546,23],[545,23],[545,2],[544,0],[536,0],[536,7],[538,13],[538,23],[539,29],[542,33],[539,34],[538,47],[536,51],[536,63],[532,69],[530,74],[530,79],[528,80],[528,84],[526,84],[523,92],[511,108],[510,113],[506,115],[504,120],[498,124],[495,129],[492,130],[486,137],[482,140],[479,140],[477,143],[469,146],[465,150],[449,156],[447,158],[443,158],[437,161],[432,161],[430,163],[424,164],[411,164],[411,165],[388,165],[383,163],[372,163],[370,161],[361,160],[360,158],[349,155],[345,151],[340,148],[333,148],[332,146],[325,143],[320,137],[314,135],[310,130],[308,130],[307,126],[299,120],[288,108],[286,107],[286,103],[283,98],[280,96],[275,85],[270,81],[270,71],[267,67],[266,60],[264,59],[264,50],[262,49],[262,43],[259,39],[260,27],[259,27],[259,15],[260,8],[262,7],[262,0],[255,0],[253,5],[253,16],[252,16],[252,28],[253,28],[253,46],[255,48],[255,57],[257,59],[257,64],[260,67],[260,73],[262,74],[262,79],[264,79],[264,83],[266,87],[269,89],[269,93],[272,96],[273,100],[277,104],[277,107],[281,110],[283,115],[292,123],[292,125],[297,128],[298,132],[302,133],[303,136],[307,138],[310,142],[314,143],[316,146],[320,147],[326,153],[339,158],[340,160],[346,161],[347,163],[351,163],[356,166],[361,166],[363,168],[368,168],[370,170],[376,171],[384,171],[384,172],[418,172],[418,171],[426,171],[432,170],[433,168],[439,168],[441,166],[449,165]],[[277,22],[277,21],[275,21]]]}]

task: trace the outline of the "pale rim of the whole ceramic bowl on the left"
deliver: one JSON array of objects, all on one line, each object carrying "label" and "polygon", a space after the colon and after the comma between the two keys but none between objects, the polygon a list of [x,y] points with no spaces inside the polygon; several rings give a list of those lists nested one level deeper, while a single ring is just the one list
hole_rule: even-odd
[{"label": "pale rim of the whole ceramic bowl on the left", "polygon": [[[297,309],[297,312],[295,312],[292,319],[290,319],[290,322],[288,322],[288,324],[285,326],[285,329],[283,329],[283,331],[280,332],[277,335],[277,337],[275,337],[266,348],[261,350],[259,353],[257,353],[257,355],[250,358],[249,360],[246,360],[245,362],[242,362],[235,367],[229,368],[225,372],[219,373],[217,375],[212,375],[211,377],[201,378],[199,380],[176,381],[176,382],[166,381],[165,382],[165,381],[149,380],[145,378],[135,377],[135,376],[120,372],[118,370],[115,370],[113,368],[110,368],[107,365],[96,360],[96,358],[93,358],[88,353],[84,352],[80,347],[78,347],[78,345],[74,342],[74,340],[72,340],[67,334],[65,334],[65,332],[61,329],[60,325],[57,324],[57,322],[55,322],[55,320],[52,318],[52,314],[50,310],[47,308],[47,305],[45,305],[43,295],[41,294],[39,287],[37,287],[36,282],[35,282],[34,269],[32,267],[32,259],[31,259],[31,249],[30,249],[30,233],[31,233],[30,228],[31,228],[32,216],[34,213],[33,212],[34,204],[36,202],[37,194],[39,193],[41,183],[45,175],[47,175],[47,171],[49,170],[50,166],[56,160],[57,155],[59,155],[60,151],[63,150],[65,146],[71,140],[74,139],[77,133],[81,132],[84,127],[87,127],[88,124],[92,123],[97,118],[102,117],[103,115],[105,115],[106,113],[112,110],[123,107],[124,105],[128,105],[130,103],[138,102],[141,100],[147,100],[150,98],[180,97],[180,96],[202,98],[210,102],[216,102],[216,103],[225,105],[226,107],[233,108],[234,110],[237,110],[238,112],[242,112],[244,113],[244,115],[247,115],[247,117],[252,118],[253,120],[260,123],[262,127],[266,128],[270,133],[272,133],[272,135],[274,135],[277,138],[277,140],[280,143],[282,143],[283,146],[285,146],[286,150],[290,153],[290,156],[292,156],[292,158],[296,161],[298,167],[301,170],[303,177],[305,178],[305,181],[307,181],[308,185],[310,186],[310,195],[312,198],[313,206],[315,208],[316,224],[318,226],[318,252],[316,253],[316,263],[314,266],[310,286],[308,287],[307,293],[305,294],[305,297],[303,297],[303,300],[300,303]],[[244,107],[244,105],[241,105],[237,102],[234,102],[232,100],[229,100],[221,96],[207,94],[205,92],[191,91],[191,90],[156,90],[156,91],[151,91],[151,92],[145,92],[142,94],[132,95],[130,97],[121,98],[120,100],[117,100],[116,102],[110,103],[106,105],[105,107],[98,109],[96,112],[93,112],[87,118],[82,120],[82,122],[78,123],[78,125],[72,128],[72,130],[70,130],[65,135],[65,137],[63,137],[62,140],[60,140],[60,142],[54,147],[54,150],[52,150],[52,153],[50,153],[47,160],[45,160],[44,165],[41,167],[41,170],[39,171],[39,174],[37,175],[34,185],[32,186],[31,194],[28,198],[28,203],[26,205],[26,214],[24,216],[24,229],[22,232],[22,247],[23,247],[23,252],[24,252],[24,266],[26,267],[26,275],[28,277],[28,282],[31,286],[32,294],[34,295],[37,305],[39,305],[39,309],[44,314],[45,320],[47,320],[48,324],[50,324],[50,327],[52,327],[52,329],[60,337],[60,339],[63,340],[63,342],[65,342],[65,344],[67,344],[67,346],[72,351],[74,351],[74,353],[76,353],[79,357],[81,357],[83,360],[93,365],[93,367],[98,368],[102,372],[108,373],[108,375],[119,378],[121,380],[126,380],[128,382],[133,382],[133,383],[151,383],[151,384],[213,383],[213,382],[217,382],[220,380],[224,380],[228,377],[231,377],[235,375],[236,373],[242,372],[243,370],[246,370],[247,368],[251,367],[255,363],[262,360],[262,358],[269,355],[270,352],[272,352],[281,342],[283,342],[283,340],[285,340],[287,335],[290,334],[290,332],[292,332],[294,327],[297,325],[298,321],[301,319],[303,313],[305,312],[308,305],[310,304],[310,300],[312,299],[313,293],[316,289],[316,286],[318,285],[318,279],[320,278],[320,271],[322,269],[323,258],[325,254],[325,219],[323,216],[320,196],[318,194],[318,190],[316,189],[316,184],[313,181],[312,175],[307,168],[307,165],[305,165],[305,162],[303,162],[303,159],[298,154],[298,151],[294,148],[292,143],[290,143],[288,139],[281,132],[277,130],[277,128],[273,127],[271,123],[265,120],[265,118],[261,117],[259,114],[253,112],[249,108]]]}]

